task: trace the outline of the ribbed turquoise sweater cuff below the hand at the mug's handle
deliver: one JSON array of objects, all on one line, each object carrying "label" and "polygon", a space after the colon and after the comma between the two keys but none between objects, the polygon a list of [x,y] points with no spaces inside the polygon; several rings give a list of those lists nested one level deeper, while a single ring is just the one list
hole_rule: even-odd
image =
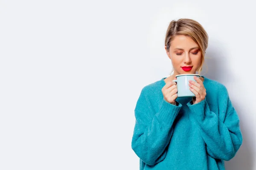
[{"label": "ribbed turquoise sweater cuff below the hand at the mug's handle", "polygon": [[182,105],[177,101],[176,105],[173,105],[167,102],[165,99],[163,99],[160,106],[159,114],[157,116],[158,120],[165,125],[172,125],[172,122],[176,118],[181,107]]}]

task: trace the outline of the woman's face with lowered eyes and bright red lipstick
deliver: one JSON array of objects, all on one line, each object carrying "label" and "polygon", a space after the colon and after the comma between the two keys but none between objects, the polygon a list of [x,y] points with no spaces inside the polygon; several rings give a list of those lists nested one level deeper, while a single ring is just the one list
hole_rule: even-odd
[{"label": "woman's face with lowered eyes and bright red lipstick", "polygon": [[201,65],[199,46],[189,36],[175,36],[166,54],[172,60],[175,75],[195,74]]}]

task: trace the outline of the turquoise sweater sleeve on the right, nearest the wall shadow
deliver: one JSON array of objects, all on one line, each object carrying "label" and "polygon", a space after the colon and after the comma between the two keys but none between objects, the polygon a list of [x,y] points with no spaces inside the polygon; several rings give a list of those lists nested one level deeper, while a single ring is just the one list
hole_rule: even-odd
[{"label": "turquoise sweater sleeve on the right, nearest the wall shadow", "polygon": [[210,111],[206,99],[195,105],[191,105],[190,102],[187,105],[198,121],[209,156],[225,161],[232,159],[242,144],[242,134],[239,117],[228,94],[224,104],[227,106],[224,109],[224,121],[219,120],[218,116]]}]

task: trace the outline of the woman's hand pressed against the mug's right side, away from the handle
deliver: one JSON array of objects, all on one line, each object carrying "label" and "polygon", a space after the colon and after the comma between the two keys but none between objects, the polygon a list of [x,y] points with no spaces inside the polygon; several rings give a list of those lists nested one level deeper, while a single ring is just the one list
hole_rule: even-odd
[{"label": "woman's hand pressed against the mug's right side, away from the handle", "polygon": [[197,104],[205,99],[206,89],[204,88],[204,83],[201,79],[194,76],[196,82],[189,80],[189,90],[195,94],[195,99],[193,98],[193,104]]}]

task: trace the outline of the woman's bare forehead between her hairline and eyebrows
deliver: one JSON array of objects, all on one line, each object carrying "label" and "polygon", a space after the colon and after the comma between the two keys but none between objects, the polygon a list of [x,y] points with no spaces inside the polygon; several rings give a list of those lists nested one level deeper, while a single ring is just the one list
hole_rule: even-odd
[{"label": "woman's bare forehead between her hairline and eyebrows", "polygon": [[182,48],[182,49],[187,49],[189,50],[190,48],[193,47],[198,47],[198,44],[192,40],[191,37],[186,36],[186,35],[177,35],[174,37],[174,39],[171,41],[171,46],[170,48],[175,49],[175,48]]}]

